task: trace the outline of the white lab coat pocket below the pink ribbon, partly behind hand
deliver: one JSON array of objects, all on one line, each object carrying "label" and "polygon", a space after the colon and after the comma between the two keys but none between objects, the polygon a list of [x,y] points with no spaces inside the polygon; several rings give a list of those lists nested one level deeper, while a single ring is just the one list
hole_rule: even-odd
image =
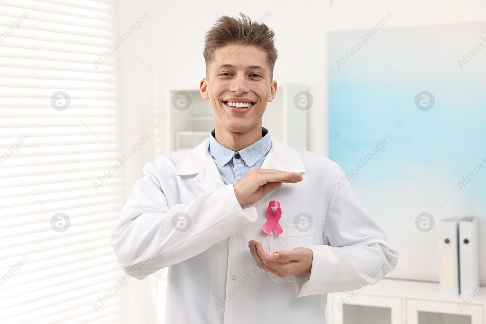
[{"label": "white lab coat pocket below the pink ribbon, partly behind hand", "polygon": [[[290,251],[298,247],[312,245],[314,234],[313,224],[309,223],[308,227],[310,227],[310,229],[306,229],[306,231],[302,231],[302,229],[295,224],[280,224],[280,226],[282,226],[283,230],[280,235],[277,236],[273,231],[270,232],[270,255],[275,251]],[[274,273],[269,272],[268,274],[272,277],[274,282],[294,281],[293,275],[280,278]]]}]

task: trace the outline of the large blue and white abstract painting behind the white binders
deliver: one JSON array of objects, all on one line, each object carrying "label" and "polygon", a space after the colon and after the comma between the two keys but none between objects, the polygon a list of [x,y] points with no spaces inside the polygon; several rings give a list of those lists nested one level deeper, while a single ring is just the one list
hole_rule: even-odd
[{"label": "large blue and white abstract painting behind the white binders", "polygon": [[387,15],[329,34],[330,159],[399,248],[389,277],[438,281],[437,223],[476,216],[486,279],[486,23]]}]

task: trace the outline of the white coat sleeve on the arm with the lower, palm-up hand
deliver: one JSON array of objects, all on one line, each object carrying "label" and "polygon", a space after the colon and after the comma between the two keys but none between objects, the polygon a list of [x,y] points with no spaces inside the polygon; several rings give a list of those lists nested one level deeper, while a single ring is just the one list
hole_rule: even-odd
[{"label": "white coat sleeve on the arm with the lower, palm-up hand", "polygon": [[378,282],[397,265],[398,251],[364,210],[337,164],[323,238],[317,239],[322,244],[306,246],[312,250],[312,269],[310,275],[294,277],[297,297],[357,290]]}]

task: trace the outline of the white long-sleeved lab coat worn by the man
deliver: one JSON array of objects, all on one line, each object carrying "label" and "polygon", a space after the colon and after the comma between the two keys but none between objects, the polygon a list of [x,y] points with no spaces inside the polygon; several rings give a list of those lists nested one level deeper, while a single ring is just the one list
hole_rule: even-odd
[{"label": "white long-sleeved lab coat worn by the man", "polygon": [[[303,180],[242,208],[208,145],[147,163],[111,236],[121,268],[137,279],[169,267],[165,323],[324,323],[328,292],[376,283],[395,268],[397,250],[335,162],[272,137],[262,168],[300,172]],[[282,210],[279,236],[261,230],[272,200]],[[263,271],[251,239],[269,254],[310,248],[311,273],[281,279]]]}]

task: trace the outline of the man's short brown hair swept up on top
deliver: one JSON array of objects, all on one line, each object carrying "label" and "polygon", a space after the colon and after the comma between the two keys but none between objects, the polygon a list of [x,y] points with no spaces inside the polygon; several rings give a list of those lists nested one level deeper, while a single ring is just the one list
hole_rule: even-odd
[{"label": "man's short brown hair swept up on top", "polygon": [[[267,53],[267,63],[270,67],[270,81],[273,79],[277,50],[275,49],[275,34],[267,25],[251,21],[250,17],[240,14],[241,19],[222,16],[214,26],[206,33],[206,45],[204,47],[204,60],[206,61],[206,77],[209,77],[209,66],[213,60],[226,60],[234,55],[242,45],[253,45]],[[234,49],[226,52],[224,56],[214,57],[214,51],[218,47],[235,45]]]}]

